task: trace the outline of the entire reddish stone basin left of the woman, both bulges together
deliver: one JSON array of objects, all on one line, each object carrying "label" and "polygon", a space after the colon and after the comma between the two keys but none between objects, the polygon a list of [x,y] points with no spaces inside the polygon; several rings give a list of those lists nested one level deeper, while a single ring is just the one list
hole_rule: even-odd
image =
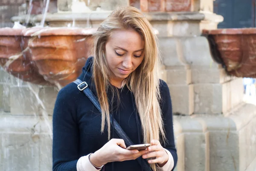
[{"label": "entire reddish stone basin left of the woman, both bulges together", "polygon": [[2,28],[0,65],[23,81],[63,87],[93,54],[93,32],[96,28]]}]

